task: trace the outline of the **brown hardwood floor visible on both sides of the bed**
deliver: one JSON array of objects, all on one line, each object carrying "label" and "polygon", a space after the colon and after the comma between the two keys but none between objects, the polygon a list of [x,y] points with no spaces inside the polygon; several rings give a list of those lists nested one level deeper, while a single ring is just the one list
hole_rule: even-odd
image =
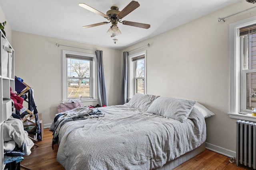
[{"label": "brown hardwood floor visible on both sides of the bed", "polygon": [[[23,166],[31,170],[65,169],[56,160],[58,145],[54,145],[52,150],[52,132],[49,129],[44,129],[43,141],[38,141],[36,144],[39,147],[33,147],[32,153],[24,157],[21,162]],[[228,160],[230,160],[229,157],[206,149],[174,170],[250,170],[247,167],[236,166]]]}]

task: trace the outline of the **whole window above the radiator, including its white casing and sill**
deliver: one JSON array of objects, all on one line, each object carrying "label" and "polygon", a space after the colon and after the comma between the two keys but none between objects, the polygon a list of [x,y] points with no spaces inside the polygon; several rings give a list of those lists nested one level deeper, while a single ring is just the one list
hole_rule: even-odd
[{"label": "whole window above the radiator, including its white casing and sill", "polygon": [[256,121],[256,17],[230,24],[230,117]]}]

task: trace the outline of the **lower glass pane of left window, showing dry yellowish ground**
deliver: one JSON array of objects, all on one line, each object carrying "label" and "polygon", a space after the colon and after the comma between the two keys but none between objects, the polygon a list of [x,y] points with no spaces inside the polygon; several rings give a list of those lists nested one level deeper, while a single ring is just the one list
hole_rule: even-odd
[{"label": "lower glass pane of left window, showing dry yellowish ground", "polygon": [[90,96],[90,79],[68,78],[68,98],[88,98]]}]

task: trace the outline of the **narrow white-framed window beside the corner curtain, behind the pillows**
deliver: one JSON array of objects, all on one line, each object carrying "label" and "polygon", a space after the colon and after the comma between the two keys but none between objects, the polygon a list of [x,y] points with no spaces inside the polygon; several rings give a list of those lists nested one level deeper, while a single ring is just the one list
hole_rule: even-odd
[{"label": "narrow white-framed window beside the corner curtain, behind the pillows", "polygon": [[146,51],[128,56],[128,98],[146,94]]}]

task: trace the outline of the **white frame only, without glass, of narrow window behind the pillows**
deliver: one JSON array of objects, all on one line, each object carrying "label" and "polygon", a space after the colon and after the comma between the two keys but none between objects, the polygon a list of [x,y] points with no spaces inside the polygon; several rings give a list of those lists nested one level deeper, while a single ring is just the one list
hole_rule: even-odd
[{"label": "white frame only, without glass, of narrow window behind the pillows", "polygon": [[144,55],[144,94],[147,94],[147,64],[146,64],[146,50],[141,51],[132,55],[128,55],[128,98],[132,98],[134,94],[136,93],[136,79],[141,78],[135,78],[135,61],[132,61],[133,58],[139,57]]}]

